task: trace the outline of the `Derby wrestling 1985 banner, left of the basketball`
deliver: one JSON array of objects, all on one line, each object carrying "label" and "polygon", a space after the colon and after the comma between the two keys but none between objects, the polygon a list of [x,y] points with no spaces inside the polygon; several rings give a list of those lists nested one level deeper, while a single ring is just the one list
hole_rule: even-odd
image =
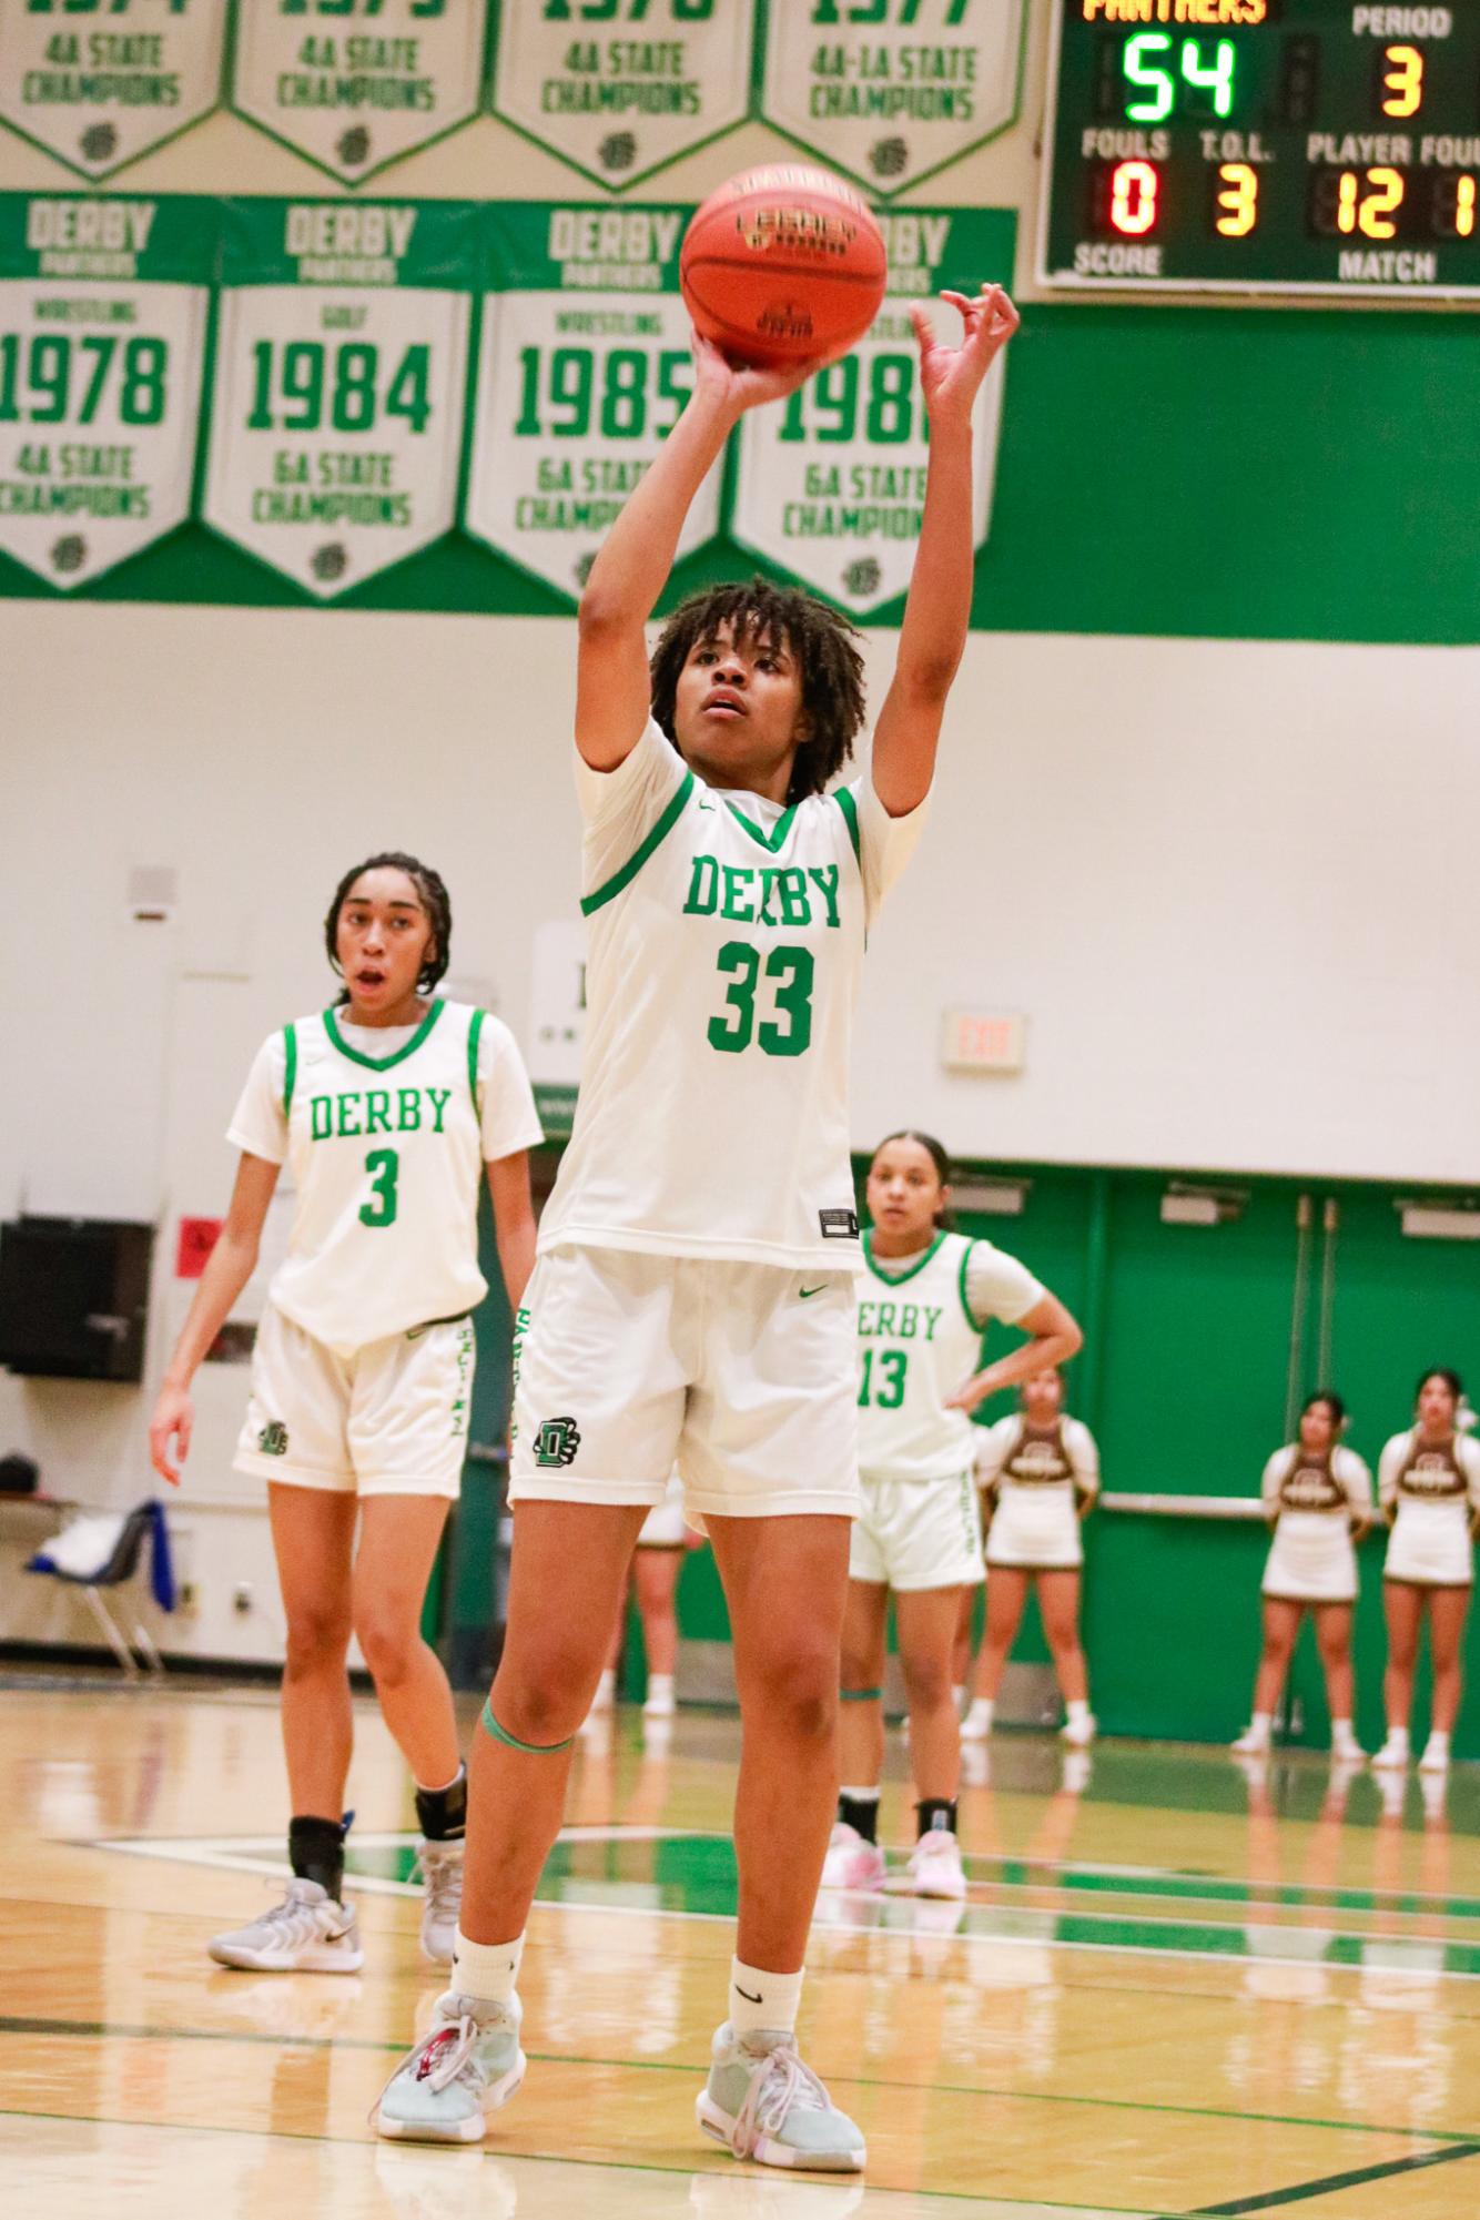
[{"label": "Derby wrestling 1985 banner, left of the basketball", "polygon": [[[690,209],[486,209],[484,302],[464,528],[570,597],[683,413],[695,366],[679,300]],[[714,464],[679,555],[719,531]]]}]

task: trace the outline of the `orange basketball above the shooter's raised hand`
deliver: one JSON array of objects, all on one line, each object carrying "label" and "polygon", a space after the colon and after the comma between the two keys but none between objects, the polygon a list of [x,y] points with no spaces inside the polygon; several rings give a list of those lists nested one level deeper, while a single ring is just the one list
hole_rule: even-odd
[{"label": "orange basketball above the shooter's raised hand", "polygon": [[825,169],[777,162],[695,209],[679,284],[695,329],[734,362],[808,362],[861,340],[883,300],[883,233]]}]

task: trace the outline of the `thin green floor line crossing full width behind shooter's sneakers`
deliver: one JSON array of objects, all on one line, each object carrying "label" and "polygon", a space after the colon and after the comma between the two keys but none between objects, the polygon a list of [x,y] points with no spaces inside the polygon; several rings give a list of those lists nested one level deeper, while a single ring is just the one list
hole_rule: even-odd
[{"label": "thin green floor line crossing full width behind shooter's sneakers", "polygon": [[[73,2036],[80,2040],[118,2042],[266,2042],[282,2047],[291,2042],[300,2051],[371,2051],[379,2058],[399,2058],[404,2042],[368,2042],[359,2036],[308,2036],[308,2034],[264,2034],[255,2027],[131,2027],[122,2020],[44,2020],[36,2014],[0,2014],[0,2036]],[[528,2051],[530,2065],[541,2067],[601,2067],[632,2073],[701,2073],[703,2062],[686,2065],[668,2058],[586,2058],[572,2051]],[[1218,2105],[1158,2105],[1149,2098],[1125,2096],[1061,2096],[1052,2089],[1001,2089],[963,2082],[905,2082],[879,2073],[832,2073],[839,2087],[890,2089],[901,2096],[967,2096],[983,2102],[1016,2105],[1087,2105],[1094,2111],[1152,2111],[1174,2120],[1240,2120],[1249,2127],[1305,2127],[1331,2136],[1422,2136],[1425,2142],[1464,2145],[1480,2149],[1473,2129],[1449,2127],[1385,2127],[1376,2120],[1311,2120],[1305,2113],[1285,2111],[1229,2111]],[[2,2113],[2,2107],[0,2107]],[[40,2116],[38,2116],[40,2118]],[[943,2193],[943,2191],[941,2191]],[[1078,2209],[1078,2207],[1076,2207]],[[1134,2207],[1127,2207],[1134,2209]]]}]

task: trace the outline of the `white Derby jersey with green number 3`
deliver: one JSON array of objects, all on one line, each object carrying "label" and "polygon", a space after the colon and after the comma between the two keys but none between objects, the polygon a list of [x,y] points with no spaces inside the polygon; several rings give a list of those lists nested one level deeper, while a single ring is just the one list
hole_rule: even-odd
[{"label": "white Derby jersey with green number 3", "polygon": [[348,1354],[481,1303],[477,1037],[481,1010],[435,1001],[404,1048],[368,1057],[335,1012],[284,1028],[297,1210],[273,1303]]}]

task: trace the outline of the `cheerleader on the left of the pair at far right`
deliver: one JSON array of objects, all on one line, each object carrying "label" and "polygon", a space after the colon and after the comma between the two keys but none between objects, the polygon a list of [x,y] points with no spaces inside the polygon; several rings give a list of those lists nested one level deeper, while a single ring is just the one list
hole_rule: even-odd
[{"label": "cheerleader on the left of the pair at far right", "polygon": [[1351,1732],[1351,1607],[1356,1603],[1354,1543],[1373,1523],[1371,1472],[1342,1447],[1347,1407],[1327,1388],[1300,1412],[1300,1436],[1265,1465],[1260,1496],[1274,1532],[1265,1563],[1265,1647],[1254,1681],[1254,1718],[1234,1749],[1243,1758],[1269,1754],[1274,1712],[1305,1612],[1316,1621],[1316,1645],[1331,1712],[1331,1756],[1360,1765]]}]

